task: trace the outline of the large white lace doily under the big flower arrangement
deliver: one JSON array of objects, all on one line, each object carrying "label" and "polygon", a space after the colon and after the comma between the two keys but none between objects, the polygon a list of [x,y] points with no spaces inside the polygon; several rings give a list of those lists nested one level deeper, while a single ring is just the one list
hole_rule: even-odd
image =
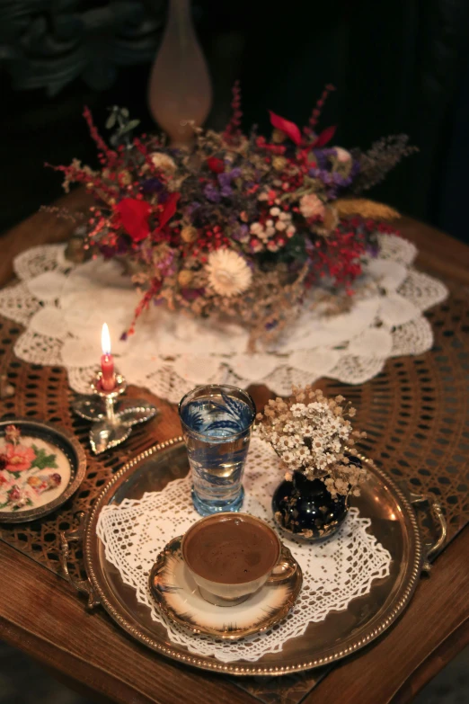
[{"label": "large white lace doily under the big flower arrangement", "polygon": [[79,393],[90,392],[103,322],[128,383],[173,403],[203,383],[263,383],[279,395],[321,377],[360,384],[389,357],[429,350],[433,335],[423,311],[447,297],[440,281],[411,267],[411,243],[394,235],[379,239],[380,256],[364,265],[350,312],[325,316],[321,307],[305,305],[269,352],[247,354],[248,333],[240,325],[222,326],[161,306],[150,307],[136,334],[121,341],[139,294],[118,262],[75,266],[66,261],[64,245],[34,247],[16,258],[21,282],[0,291],[0,313],[26,327],[15,345],[17,356],[66,367]]}]

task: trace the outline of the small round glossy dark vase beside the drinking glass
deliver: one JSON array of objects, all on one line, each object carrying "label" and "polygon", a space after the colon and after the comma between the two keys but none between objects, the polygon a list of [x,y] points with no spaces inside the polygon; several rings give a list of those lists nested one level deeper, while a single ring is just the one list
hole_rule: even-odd
[{"label": "small round glossy dark vase beside the drinking glass", "polygon": [[332,498],[323,479],[307,479],[295,472],[293,481],[285,480],[277,487],[272,511],[282,530],[314,542],[329,538],[340,529],[349,511],[348,497]]}]

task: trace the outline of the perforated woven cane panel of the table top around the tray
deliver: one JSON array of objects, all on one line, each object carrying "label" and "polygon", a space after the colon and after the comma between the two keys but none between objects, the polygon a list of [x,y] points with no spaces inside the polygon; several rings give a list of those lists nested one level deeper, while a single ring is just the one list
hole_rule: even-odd
[{"label": "perforated woven cane panel of the table top around the tray", "polygon": [[[385,370],[367,384],[350,387],[323,380],[325,393],[347,397],[358,409],[358,427],[367,430],[362,449],[398,481],[417,493],[438,496],[447,517],[448,542],[469,519],[469,292],[452,287],[447,303],[427,316],[435,333],[430,352],[386,362]],[[0,374],[16,387],[13,398],[0,400],[0,416],[26,416],[58,423],[75,432],[86,450],[88,468],[78,492],[42,521],[0,526],[0,539],[60,574],[60,530],[76,525],[77,512],[87,511],[102,486],[128,459],[157,441],[179,434],[173,406],[153,399],[162,411],[151,423],[137,427],[123,445],[102,459],[89,451],[89,423],[71,412],[75,395],[66,371],[19,361],[13,344],[21,329],[0,317]],[[307,379],[305,379],[305,382]],[[130,395],[151,395],[130,389]],[[434,526],[419,514],[424,539],[434,538]],[[84,576],[81,551],[72,544],[69,570]],[[323,671],[276,679],[276,683],[237,682],[259,699],[293,704],[323,676]],[[272,699],[273,698],[273,699]]]}]

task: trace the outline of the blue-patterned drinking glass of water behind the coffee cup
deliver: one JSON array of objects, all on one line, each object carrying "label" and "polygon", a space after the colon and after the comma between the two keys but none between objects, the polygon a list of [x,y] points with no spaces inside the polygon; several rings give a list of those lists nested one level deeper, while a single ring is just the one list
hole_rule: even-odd
[{"label": "blue-patterned drinking glass of water behind the coffee cup", "polygon": [[256,406],[241,388],[208,384],[179,404],[192,474],[192,502],[202,516],[239,511],[243,468]]}]

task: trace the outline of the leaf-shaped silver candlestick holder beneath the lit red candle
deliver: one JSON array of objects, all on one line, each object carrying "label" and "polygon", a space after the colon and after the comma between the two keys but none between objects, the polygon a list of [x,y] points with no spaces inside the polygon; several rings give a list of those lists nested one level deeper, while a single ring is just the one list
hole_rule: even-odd
[{"label": "leaf-shaped silver candlestick holder beneath the lit red candle", "polygon": [[155,405],[137,398],[122,399],[127,388],[126,379],[116,374],[116,385],[111,391],[102,388],[102,372],[91,382],[92,397],[80,398],[73,404],[75,414],[92,421],[90,444],[95,455],[111,450],[127,440],[137,423],[145,423],[158,413]]}]

